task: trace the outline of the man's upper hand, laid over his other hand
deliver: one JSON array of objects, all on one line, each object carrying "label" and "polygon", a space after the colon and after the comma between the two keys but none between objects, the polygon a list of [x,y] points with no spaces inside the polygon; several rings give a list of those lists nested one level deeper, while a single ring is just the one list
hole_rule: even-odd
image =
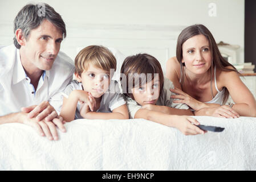
[{"label": "man's upper hand, laid over his other hand", "polygon": [[29,113],[29,118],[36,117],[37,121],[52,121],[54,118],[59,118],[58,113],[54,107],[50,105],[48,101],[43,101],[39,105],[32,105],[29,107],[22,107],[21,110],[25,113]]}]

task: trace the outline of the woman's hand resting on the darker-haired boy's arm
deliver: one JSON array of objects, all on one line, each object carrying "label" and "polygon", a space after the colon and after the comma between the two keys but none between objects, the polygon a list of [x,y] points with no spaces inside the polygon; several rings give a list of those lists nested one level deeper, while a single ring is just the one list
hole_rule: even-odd
[{"label": "woman's hand resting on the darker-haired boy's arm", "polygon": [[204,107],[207,107],[203,102],[197,101],[193,97],[189,96],[189,94],[183,92],[178,88],[174,88],[174,89],[170,88],[170,92],[174,92],[177,94],[177,95],[170,96],[170,98],[179,99],[179,100],[174,100],[173,103],[183,103],[188,105],[194,110],[200,110]]}]

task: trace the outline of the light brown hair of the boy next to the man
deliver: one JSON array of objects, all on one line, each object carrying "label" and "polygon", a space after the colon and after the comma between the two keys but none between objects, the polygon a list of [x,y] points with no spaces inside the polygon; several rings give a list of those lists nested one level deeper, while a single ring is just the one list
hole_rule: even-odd
[{"label": "light brown hair of the boy next to the man", "polygon": [[109,72],[110,69],[116,71],[116,58],[106,47],[88,46],[83,48],[75,58],[75,73],[81,76],[82,72],[87,71],[90,65]]}]

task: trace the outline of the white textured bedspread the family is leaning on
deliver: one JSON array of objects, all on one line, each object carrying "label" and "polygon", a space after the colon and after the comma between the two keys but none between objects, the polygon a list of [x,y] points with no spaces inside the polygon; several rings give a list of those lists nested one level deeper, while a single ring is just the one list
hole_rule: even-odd
[{"label": "white textured bedspread the family is leaning on", "polygon": [[30,126],[0,125],[0,169],[256,170],[256,118],[195,118],[225,130],[185,136],[144,119],[79,119],[50,141]]}]

